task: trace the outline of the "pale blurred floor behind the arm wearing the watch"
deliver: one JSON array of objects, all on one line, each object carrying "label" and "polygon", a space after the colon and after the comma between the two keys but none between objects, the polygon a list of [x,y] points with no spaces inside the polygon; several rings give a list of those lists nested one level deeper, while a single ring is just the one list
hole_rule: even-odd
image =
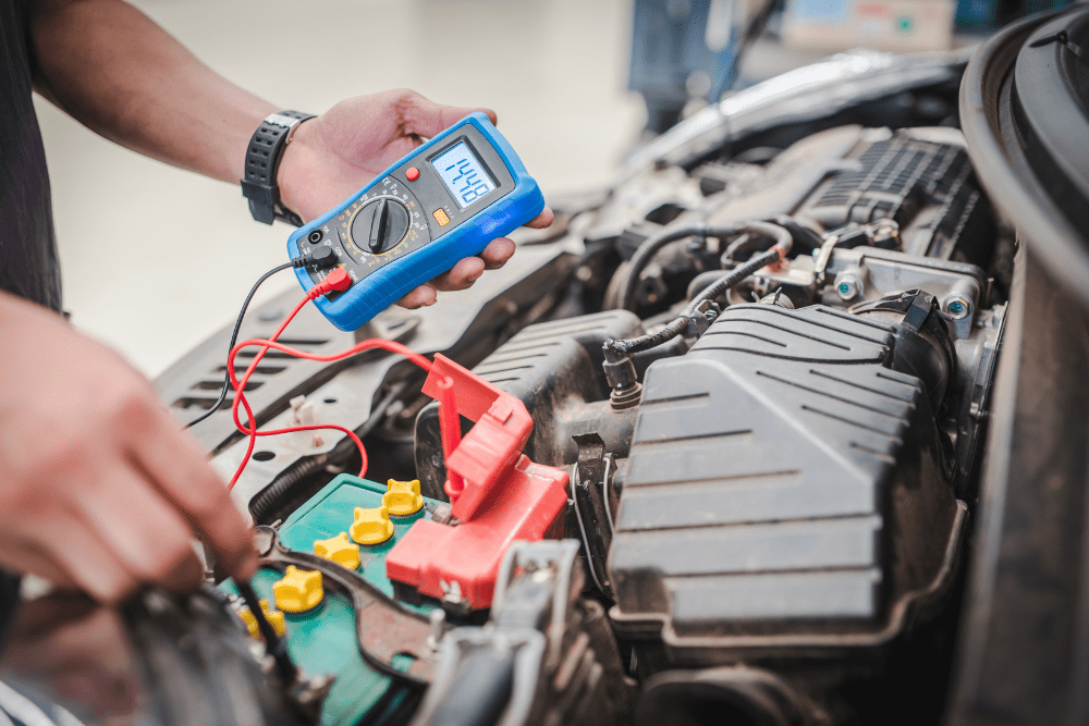
[{"label": "pale blurred floor behind the arm wearing the watch", "polygon": [[[413,88],[485,106],[544,190],[607,185],[638,137],[629,0],[137,0],[234,83],[283,108]],[[155,376],[233,321],[286,260],[291,227],[254,222],[238,187],[151,161],[35,98],[65,309]],[[120,284],[121,282],[124,284]],[[278,275],[258,300],[292,285]]]}]

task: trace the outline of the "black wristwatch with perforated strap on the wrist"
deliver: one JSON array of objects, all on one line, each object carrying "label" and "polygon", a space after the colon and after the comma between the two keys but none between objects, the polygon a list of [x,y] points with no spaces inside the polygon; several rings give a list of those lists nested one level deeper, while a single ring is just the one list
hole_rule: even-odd
[{"label": "black wristwatch with perforated strap on the wrist", "polygon": [[291,135],[313,113],[281,111],[272,113],[261,122],[249,139],[246,149],[246,177],[242,180],[242,194],[249,199],[249,213],[265,224],[272,220],[283,220],[301,226],[303,220],[295,212],[280,204],[280,187],[276,183],[276,172],[280,168],[283,150]]}]

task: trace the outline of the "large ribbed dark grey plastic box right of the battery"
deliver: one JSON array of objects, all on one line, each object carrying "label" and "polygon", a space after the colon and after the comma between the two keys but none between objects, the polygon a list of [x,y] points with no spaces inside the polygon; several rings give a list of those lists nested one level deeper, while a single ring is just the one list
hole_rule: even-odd
[{"label": "large ribbed dark grey plastic box right of the battery", "polygon": [[609,561],[619,625],[676,652],[889,635],[893,605],[947,575],[963,505],[923,387],[890,368],[897,333],[734,306],[650,367]]}]

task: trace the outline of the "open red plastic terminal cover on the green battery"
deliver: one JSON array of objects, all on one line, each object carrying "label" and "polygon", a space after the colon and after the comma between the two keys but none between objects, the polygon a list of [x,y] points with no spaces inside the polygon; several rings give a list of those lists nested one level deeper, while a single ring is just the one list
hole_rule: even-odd
[{"label": "open red plastic terminal cover on the green battery", "polygon": [[[521,401],[449,358],[435,356],[424,393],[443,409],[445,490],[461,524],[417,520],[386,555],[386,574],[425,595],[488,607],[507,545],[542,539],[564,510],[567,475],[523,455],[534,421]],[[461,442],[454,410],[476,423]]]}]

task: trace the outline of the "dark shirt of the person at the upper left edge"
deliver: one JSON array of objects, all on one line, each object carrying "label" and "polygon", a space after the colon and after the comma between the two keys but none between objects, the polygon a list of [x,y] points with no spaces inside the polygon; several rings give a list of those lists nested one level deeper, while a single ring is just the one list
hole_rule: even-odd
[{"label": "dark shirt of the person at the upper left edge", "polygon": [[30,101],[26,0],[0,0],[0,290],[61,309],[46,151]]}]

